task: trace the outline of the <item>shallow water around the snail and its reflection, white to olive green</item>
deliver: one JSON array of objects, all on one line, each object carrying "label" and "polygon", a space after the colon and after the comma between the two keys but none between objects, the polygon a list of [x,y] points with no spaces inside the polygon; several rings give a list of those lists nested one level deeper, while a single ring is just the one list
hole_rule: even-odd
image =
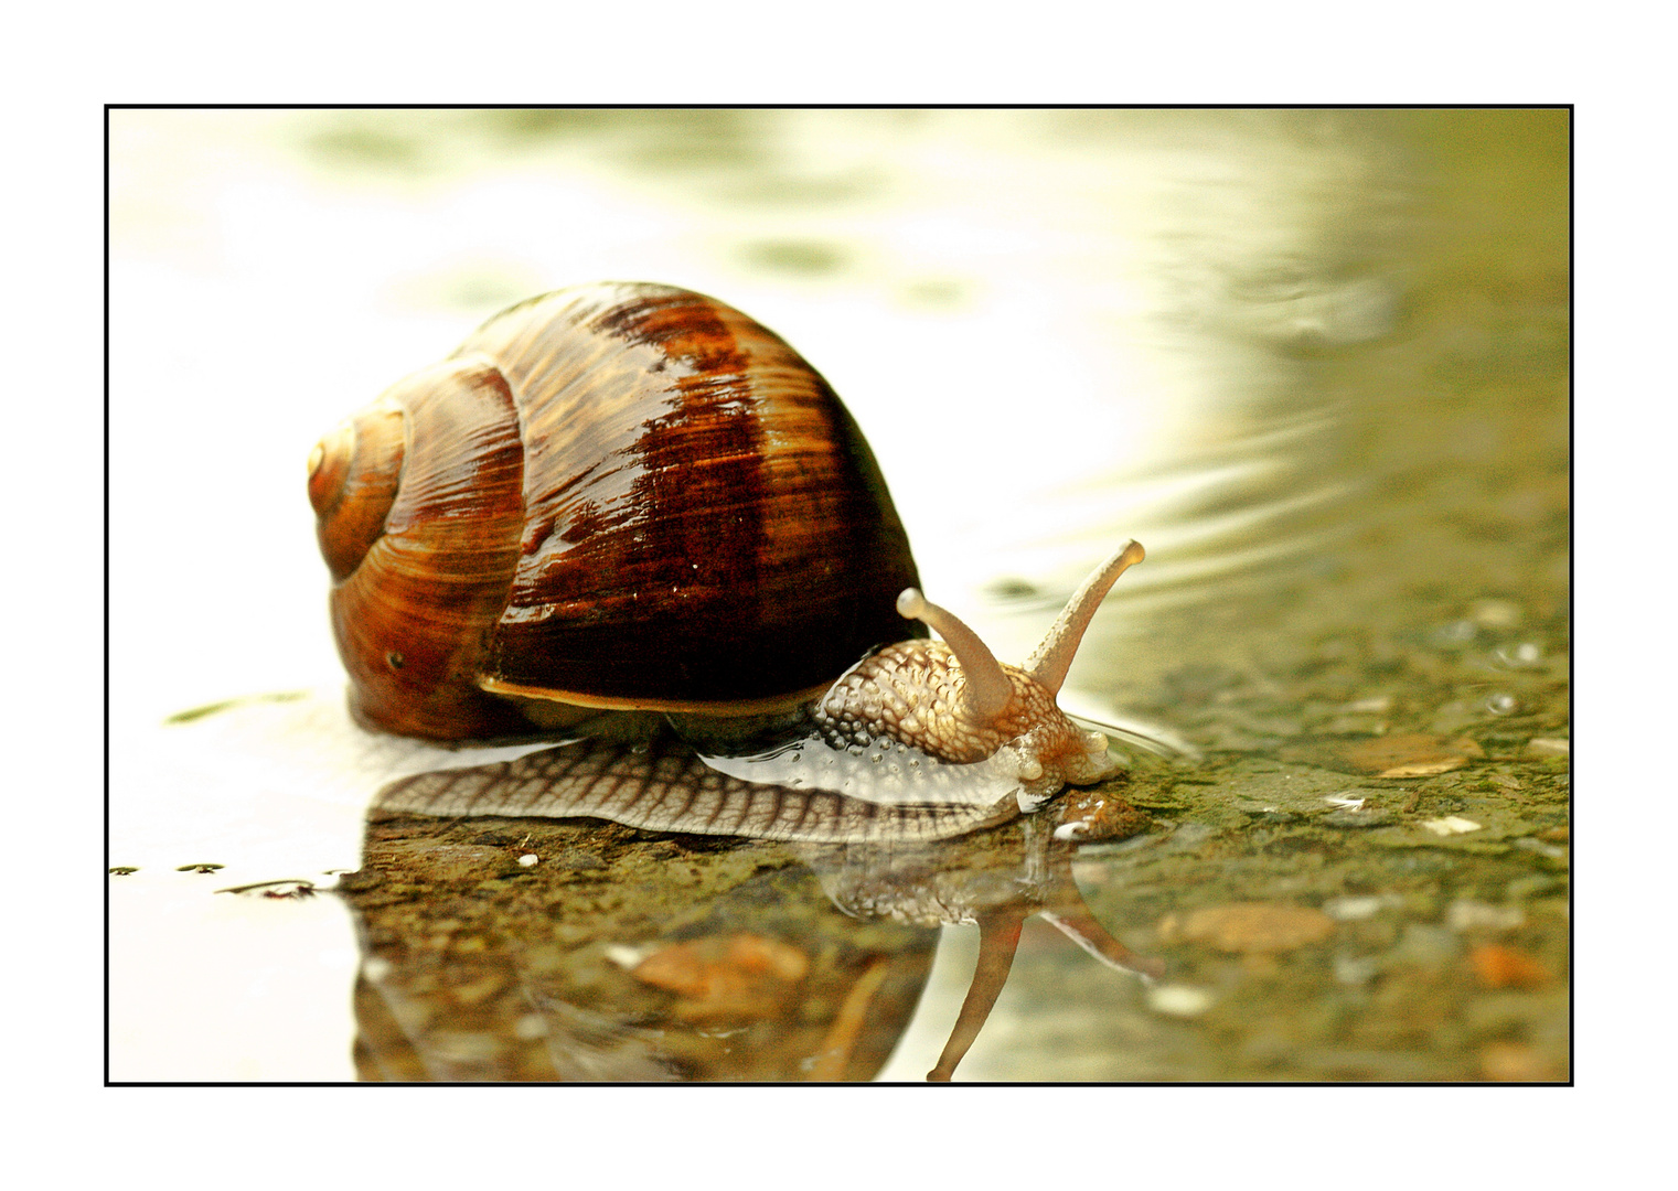
[{"label": "shallow water around the snail and its reflection, white to olive green", "polygon": [[[1148,547],[1066,701],[1198,760],[1131,750],[1148,824],[1071,872],[1168,975],[1032,918],[958,1079],[1567,1077],[1567,153],[1545,111],[114,112],[112,1077],[356,1075],[342,902],[210,892],[362,867],[379,780],[438,763],[336,710],[304,458],[609,277],[822,369],[1002,659]],[[1218,928],[1248,902],[1331,934]],[[963,946],[883,1077],[931,1065]]]}]

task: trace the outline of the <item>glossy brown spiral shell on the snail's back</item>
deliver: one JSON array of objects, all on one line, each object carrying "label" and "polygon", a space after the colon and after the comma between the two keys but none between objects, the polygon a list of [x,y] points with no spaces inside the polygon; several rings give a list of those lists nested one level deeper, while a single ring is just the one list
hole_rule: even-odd
[{"label": "glossy brown spiral shell on the snail's back", "polygon": [[503,310],[322,439],[309,491],[352,708],[388,731],[529,731],[519,698],[767,711],[926,636],[832,387],[668,285]]}]

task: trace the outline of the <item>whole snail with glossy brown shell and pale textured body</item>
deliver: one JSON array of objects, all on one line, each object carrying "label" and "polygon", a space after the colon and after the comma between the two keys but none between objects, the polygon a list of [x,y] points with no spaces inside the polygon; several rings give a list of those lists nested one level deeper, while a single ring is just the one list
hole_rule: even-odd
[{"label": "whole snail with glossy brown shell and pale textured body", "polygon": [[[1055,694],[1141,545],[1096,569],[1024,668],[1000,664],[920,592],[832,387],[715,299],[596,283],[513,305],[329,433],[309,497],[362,726],[557,735],[581,741],[576,782],[661,793],[686,782],[673,731],[713,787],[987,814],[1116,770]],[[604,802],[572,814],[634,817]],[[772,835],[852,837],[780,814]]]}]

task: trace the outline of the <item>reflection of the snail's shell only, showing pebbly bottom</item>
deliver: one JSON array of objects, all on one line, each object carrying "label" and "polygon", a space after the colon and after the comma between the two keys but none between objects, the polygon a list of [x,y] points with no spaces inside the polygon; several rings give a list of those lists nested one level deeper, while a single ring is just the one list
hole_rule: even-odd
[{"label": "reflection of the snail's shell only, showing pebbly bottom", "polygon": [[362,1080],[868,1080],[938,938],[782,844],[584,820],[371,822],[339,896]]}]

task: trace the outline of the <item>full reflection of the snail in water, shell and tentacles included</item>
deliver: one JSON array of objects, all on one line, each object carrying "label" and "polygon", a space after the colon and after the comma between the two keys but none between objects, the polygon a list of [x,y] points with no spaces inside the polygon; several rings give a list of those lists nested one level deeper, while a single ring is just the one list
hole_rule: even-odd
[{"label": "full reflection of the snail in water, shell and tentacles included", "polygon": [[[943,1006],[921,996],[935,928],[973,923],[972,986],[928,1075],[948,1080],[1027,918],[1111,968],[1163,973],[1096,921],[1072,877],[1074,837],[1146,822],[1094,792],[936,842],[374,815],[362,867],[337,889],[366,951],[356,1064],[362,1079],[404,1080],[874,1079],[918,1001],[940,1028]],[[1099,1008],[1081,996],[1040,1012],[1074,1022]]]}]

